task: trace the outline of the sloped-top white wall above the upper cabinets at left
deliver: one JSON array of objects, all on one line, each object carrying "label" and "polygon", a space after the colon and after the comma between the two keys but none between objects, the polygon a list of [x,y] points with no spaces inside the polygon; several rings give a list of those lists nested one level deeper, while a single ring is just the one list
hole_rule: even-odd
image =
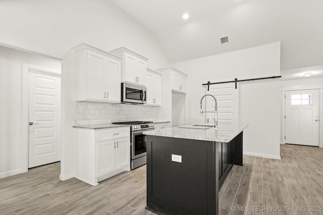
[{"label": "sloped-top white wall above the upper cabinets at left", "polygon": [[86,42],[104,50],[125,46],[168,66],[155,36],[108,0],[0,1],[0,42],[62,58]]}]

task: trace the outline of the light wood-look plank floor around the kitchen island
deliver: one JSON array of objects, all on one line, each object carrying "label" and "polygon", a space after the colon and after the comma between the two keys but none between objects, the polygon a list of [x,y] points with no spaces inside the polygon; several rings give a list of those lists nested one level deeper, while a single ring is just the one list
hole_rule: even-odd
[{"label": "light wood-look plank floor around the kitchen island", "polygon": [[[253,211],[253,206],[259,206],[258,210],[268,206],[323,207],[323,149],[281,145],[281,157],[244,156],[244,166],[233,167],[219,192],[220,214],[322,215],[321,211],[284,208]],[[0,214],[155,214],[145,209],[145,166],[97,186],[75,178],[60,181],[59,174],[60,163],[54,163],[0,179]],[[250,211],[234,211],[233,206],[249,206]]]}]

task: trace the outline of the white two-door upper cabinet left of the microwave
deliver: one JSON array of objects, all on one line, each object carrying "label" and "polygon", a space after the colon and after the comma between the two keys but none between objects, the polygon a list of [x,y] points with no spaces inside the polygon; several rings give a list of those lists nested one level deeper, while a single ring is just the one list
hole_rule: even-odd
[{"label": "white two-door upper cabinet left of the microwave", "polygon": [[86,43],[74,50],[77,100],[120,103],[122,58]]}]

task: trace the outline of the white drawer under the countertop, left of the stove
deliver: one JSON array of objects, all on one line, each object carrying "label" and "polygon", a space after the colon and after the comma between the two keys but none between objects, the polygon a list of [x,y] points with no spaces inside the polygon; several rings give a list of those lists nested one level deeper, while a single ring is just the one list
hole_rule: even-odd
[{"label": "white drawer under the countertop, left of the stove", "polygon": [[130,127],[126,128],[111,128],[96,131],[96,142],[101,142],[110,139],[130,137]]}]

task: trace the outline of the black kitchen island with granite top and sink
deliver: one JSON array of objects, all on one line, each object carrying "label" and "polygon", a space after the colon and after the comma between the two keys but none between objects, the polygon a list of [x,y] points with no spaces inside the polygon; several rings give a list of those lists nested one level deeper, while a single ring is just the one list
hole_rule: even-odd
[{"label": "black kitchen island with granite top and sink", "polygon": [[145,131],[147,209],[157,214],[219,214],[219,189],[242,166],[247,125],[210,124]]}]

